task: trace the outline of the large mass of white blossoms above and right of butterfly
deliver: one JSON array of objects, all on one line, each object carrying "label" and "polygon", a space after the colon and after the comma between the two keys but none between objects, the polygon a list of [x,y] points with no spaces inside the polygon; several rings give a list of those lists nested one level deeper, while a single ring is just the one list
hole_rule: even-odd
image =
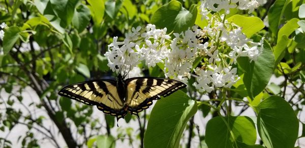
[{"label": "large mass of white blossoms above and right of butterfly", "polygon": [[[130,70],[140,76],[140,69],[135,68],[140,61],[147,67],[164,63],[166,77],[187,82],[195,77],[193,84],[199,92],[211,92],[216,88],[230,88],[239,77],[237,68],[232,68],[236,58],[247,56],[256,60],[261,53],[262,42],[255,43],[241,32],[241,28],[232,23],[223,23],[223,17],[212,17],[212,22],[203,29],[193,26],[180,33],[173,33],[174,39],[166,34],[167,29],[156,29],[148,24],[146,30],[133,28],[126,34],[124,42],[108,45],[108,66],[120,74]],[[198,63],[194,64],[195,60]]]}]

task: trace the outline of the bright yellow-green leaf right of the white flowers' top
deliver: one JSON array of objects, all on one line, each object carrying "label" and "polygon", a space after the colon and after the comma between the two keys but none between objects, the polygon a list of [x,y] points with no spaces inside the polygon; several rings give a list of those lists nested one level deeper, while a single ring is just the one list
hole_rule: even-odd
[{"label": "bright yellow-green leaf right of the white flowers' top", "polygon": [[265,27],[263,21],[258,17],[247,17],[236,14],[228,18],[228,21],[241,27],[242,32],[245,33],[248,38]]}]

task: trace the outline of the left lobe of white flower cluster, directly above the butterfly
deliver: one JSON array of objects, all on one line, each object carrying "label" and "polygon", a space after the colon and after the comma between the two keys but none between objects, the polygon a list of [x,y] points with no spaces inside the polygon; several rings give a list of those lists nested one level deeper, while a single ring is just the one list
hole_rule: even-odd
[{"label": "left lobe of white flower cluster, directly above the butterfly", "polygon": [[117,37],[114,37],[108,45],[105,56],[112,71],[127,73],[141,60],[145,60],[148,67],[156,66],[156,63],[163,62],[167,57],[169,45],[166,40],[170,39],[166,34],[167,29],[156,29],[152,24],[146,26],[144,33],[140,33],[140,29],[140,26],[132,28],[132,32],[125,34],[124,42],[117,42]]}]

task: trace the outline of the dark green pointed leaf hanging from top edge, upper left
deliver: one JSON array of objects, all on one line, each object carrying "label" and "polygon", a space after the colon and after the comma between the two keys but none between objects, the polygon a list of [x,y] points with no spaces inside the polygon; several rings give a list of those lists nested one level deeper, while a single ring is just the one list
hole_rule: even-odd
[{"label": "dark green pointed leaf hanging from top edge, upper left", "polygon": [[74,9],[79,0],[50,0],[53,12],[60,18],[61,26],[66,27],[72,21]]}]

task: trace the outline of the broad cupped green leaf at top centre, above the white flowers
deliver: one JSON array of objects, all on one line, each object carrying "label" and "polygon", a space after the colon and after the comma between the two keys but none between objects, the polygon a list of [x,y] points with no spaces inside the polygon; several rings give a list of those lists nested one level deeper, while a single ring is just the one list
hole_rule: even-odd
[{"label": "broad cupped green leaf at top centre, above the white flowers", "polygon": [[170,1],[153,14],[150,23],[155,24],[158,28],[166,27],[168,32],[182,32],[195,24],[196,17],[196,5],[192,5],[188,11],[182,8],[180,2]]}]

